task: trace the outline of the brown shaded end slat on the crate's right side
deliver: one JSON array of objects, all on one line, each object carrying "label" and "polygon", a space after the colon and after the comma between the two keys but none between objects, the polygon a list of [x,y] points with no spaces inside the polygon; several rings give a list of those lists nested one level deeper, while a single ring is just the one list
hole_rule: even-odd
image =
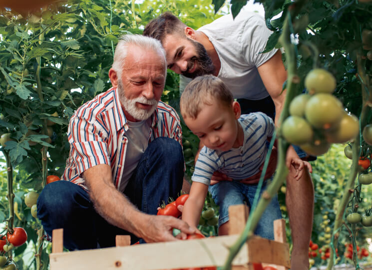
[{"label": "brown shaded end slat on the crate's right side", "polygon": [[252,236],[248,241],[248,261],[290,267],[289,246],[287,243]]}]

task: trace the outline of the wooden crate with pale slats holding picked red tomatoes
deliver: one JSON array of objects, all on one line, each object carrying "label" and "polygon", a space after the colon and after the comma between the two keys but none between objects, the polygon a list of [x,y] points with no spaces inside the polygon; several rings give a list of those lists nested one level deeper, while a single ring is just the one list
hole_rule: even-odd
[{"label": "wooden crate with pale slats holding picked red tomatoes", "polygon": [[[160,243],[129,245],[128,235],[116,236],[116,247],[70,252],[63,250],[63,230],[53,230],[51,270],[65,269],[176,269],[186,267],[221,266],[243,231],[247,217],[246,205],[229,209],[230,235]],[[253,269],[253,262],[274,265],[278,270],[290,267],[289,246],[286,243],[285,221],[274,221],[275,240],[251,237],[233,260],[233,269]],[[280,266],[278,266],[280,265]]]}]

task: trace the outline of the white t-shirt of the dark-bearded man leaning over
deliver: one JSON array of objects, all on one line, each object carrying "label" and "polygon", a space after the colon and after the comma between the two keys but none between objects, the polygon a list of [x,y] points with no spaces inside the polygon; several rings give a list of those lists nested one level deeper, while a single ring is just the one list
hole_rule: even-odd
[{"label": "white t-shirt of the dark-bearded man leaning over", "polygon": [[[200,27],[215,47],[221,61],[218,77],[222,79],[234,98],[262,99],[269,96],[257,67],[269,60],[277,51],[264,51],[272,31],[265,19],[243,8],[233,19],[232,14],[222,16]],[[191,81],[180,75],[180,92]]]}]

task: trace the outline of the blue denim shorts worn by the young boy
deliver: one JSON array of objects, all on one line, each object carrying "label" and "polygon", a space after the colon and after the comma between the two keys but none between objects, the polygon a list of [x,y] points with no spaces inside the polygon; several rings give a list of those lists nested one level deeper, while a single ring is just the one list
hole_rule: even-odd
[{"label": "blue denim shorts worn by the young boy", "polygon": [[[272,178],[267,179],[261,188],[262,192]],[[249,208],[252,207],[258,184],[244,184],[239,181],[220,181],[210,185],[208,190],[211,192],[216,204],[220,206],[220,216],[218,225],[229,220],[229,206],[246,203]],[[264,238],[274,239],[274,220],[282,218],[282,212],[279,207],[278,195],[276,194],[264,213],[255,229],[255,234]]]}]

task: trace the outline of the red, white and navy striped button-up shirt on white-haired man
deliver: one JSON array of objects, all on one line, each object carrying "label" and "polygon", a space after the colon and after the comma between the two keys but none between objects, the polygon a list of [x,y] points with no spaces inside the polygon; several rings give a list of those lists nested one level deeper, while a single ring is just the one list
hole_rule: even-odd
[{"label": "red, white and navy striped button-up shirt on white-haired man", "polygon": [[[177,112],[159,101],[151,116],[149,142],[165,136],[182,145],[182,129]],[[112,181],[119,188],[123,174],[128,139],[127,119],[116,88],[110,88],[80,106],[68,125],[70,153],[61,177],[86,189],[82,173],[98,164],[111,166]]]}]

